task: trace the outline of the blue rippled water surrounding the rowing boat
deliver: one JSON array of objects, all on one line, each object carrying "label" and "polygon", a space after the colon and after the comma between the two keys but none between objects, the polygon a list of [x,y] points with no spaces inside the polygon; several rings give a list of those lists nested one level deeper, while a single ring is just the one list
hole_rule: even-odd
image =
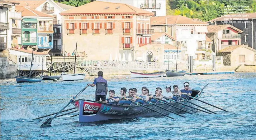
[{"label": "blue rippled water surrounding the rowing boat", "polygon": [[[17,84],[15,79],[1,80],[1,136],[0,139],[256,139],[256,73],[230,75],[186,75],[183,77],[159,77],[125,79],[123,76],[105,76],[108,89],[120,95],[120,88],[142,86],[152,93],[156,87],[183,82],[204,90],[201,100],[231,112],[212,106],[199,105],[217,112],[215,115],[197,112],[185,114],[186,118],[140,117],[104,121],[104,123],[80,123],[74,114],[58,117],[52,127],[40,128],[48,119],[31,120],[35,117],[58,112],[72,96],[92,83],[93,76],[84,81],[42,81],[41,83]],[[94,100],[95,87],[88,87],[77,99]],[[68,108],[73,107],[72,105]]]}]

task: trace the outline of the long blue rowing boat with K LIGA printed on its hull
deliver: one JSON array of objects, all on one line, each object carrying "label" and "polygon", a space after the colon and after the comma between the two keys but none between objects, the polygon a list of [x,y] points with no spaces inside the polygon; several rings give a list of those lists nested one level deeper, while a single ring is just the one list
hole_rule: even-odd
[{"label": "long blue rowing boat with K LIGA printed on its hull", "polygon": [[[192,96],[195,97],[200,90],[192,90]],[[199,96],[202,96],[202,92],[200,92]],[[194,104],[198,104],[197,100],[190,99],[190,102]],[[186,101],[180,101],[183,104],[196,107],[193,104],[190,104]],[[143,106],[139,105],[113,105],[113,104],[105,104],[98,101],[91,100],[76,100],[72,102],[74,106],[79,111],[79,122],[95,122],[95,121],[103,121],[103,120],[111,120],[111,119],[126,119],[126,118],[135,118],[135,117],[151,117],[151,116],[159,116],[155,111],[147,109]],[[178,104],[176,102],[169,102],[168,104],[174,105],[186,111],[195,111],[190,107]],[[159,103],[157,104],[165,109],[171,110],[173,112],[183,114],[184,111],[176,109],[166,104]],[[170,112],[163,110],[159,107],[153,106],[151,104],[146,104],[145,106],[150,107],[153,110],[162,112],[163,114],[168,115]]]}]

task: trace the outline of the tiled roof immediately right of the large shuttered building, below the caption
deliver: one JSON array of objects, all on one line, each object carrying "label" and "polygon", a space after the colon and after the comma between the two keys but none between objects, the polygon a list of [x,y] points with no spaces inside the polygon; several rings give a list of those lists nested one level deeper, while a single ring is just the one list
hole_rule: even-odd
[{"label": "tiled roof immediately right of the large shuttered building, below the caption", "polygon": [[150,18],[151,25],[163,25],[166,24],[203,24],[208,25],[208,23],[203,22],[199,19],[190,19],[185,16],[177,15],[177,16],[154,16]]}]

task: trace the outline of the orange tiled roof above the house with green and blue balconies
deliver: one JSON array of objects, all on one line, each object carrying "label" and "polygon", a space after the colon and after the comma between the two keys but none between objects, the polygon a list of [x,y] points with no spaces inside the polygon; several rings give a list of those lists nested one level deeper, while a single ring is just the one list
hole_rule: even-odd
[{"label": "orange tiled roof above the house with green and blue balconies", "polygon": [[21,12],[22,16],[42,16],[42,17],[50,17],[54,18],[54,16],[45,14],[43,12],[28,8],[26,6],[15,6],[16,12]]}]

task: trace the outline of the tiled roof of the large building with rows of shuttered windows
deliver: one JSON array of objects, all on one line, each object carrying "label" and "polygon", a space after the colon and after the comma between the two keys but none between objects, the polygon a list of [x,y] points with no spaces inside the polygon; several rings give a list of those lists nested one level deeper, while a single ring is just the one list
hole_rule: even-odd
[{"label": "tiled roof of the large building with rows of shuttered windows", "polygon": [[149,12],[143,9],[136,8],[127,4],[108,3],[103,1],[93,1],[79,7],[61,12],[60,14],[147,14],[153,15],[153,12]]}]

